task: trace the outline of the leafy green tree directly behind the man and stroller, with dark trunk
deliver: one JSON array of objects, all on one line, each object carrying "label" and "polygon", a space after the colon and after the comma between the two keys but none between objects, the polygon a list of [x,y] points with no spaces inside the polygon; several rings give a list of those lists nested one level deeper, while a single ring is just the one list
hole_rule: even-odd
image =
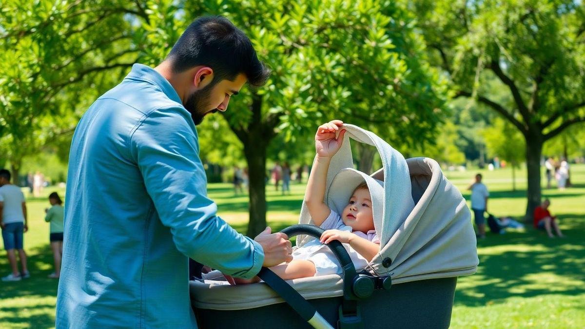
[{"label": "leafy green tree directly behind the man and stroller, with dark trunk", "polygon": [[[383,5],[393,8],[390,2]],[[266,150],[278,133],[291,141],[312,136],[318,122],[333,118],[384,126],[384,135],[404,139],[417,139],[413,131],[419,128],[417,141],[427,136],[420,133],[425,128],[432,133],[442,104],[436,77],[424,71],[422,60],[416,59],[418,66],[412,59],[407,63],[417,54],[407,46],[415,40],[397,33],[406,29],[380,13],[383,5],[240,1],[205,10],[228,16],[244,29],[274,72],[266,88],[251,91],[225,112],[249,165],[248,235],[266,227]],[[395,14],[401,12],[395,9]],[[393,33],[396,39],[391,39]]]}]

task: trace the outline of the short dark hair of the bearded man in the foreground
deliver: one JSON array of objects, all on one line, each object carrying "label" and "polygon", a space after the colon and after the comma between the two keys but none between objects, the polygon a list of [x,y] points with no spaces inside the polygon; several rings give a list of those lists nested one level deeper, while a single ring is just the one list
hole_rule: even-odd
[{"label": "short dark hair of the bearded man in the foreground", "polygon": [[246,75],[250,85],[266,83],[270,70],[258,60],[250,39],[222,16],[196,19],[174,44],[167,59],[175,73],[198,65],[214,70],[213,84]]}]

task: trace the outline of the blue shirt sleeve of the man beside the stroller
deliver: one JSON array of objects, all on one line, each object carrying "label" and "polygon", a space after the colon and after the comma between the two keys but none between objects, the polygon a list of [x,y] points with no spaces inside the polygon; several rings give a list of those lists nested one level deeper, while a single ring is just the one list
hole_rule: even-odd
[{"label": "blue shirt sleeve of the man beside the stroller", "polygon": [[[130,135],[130,150],[163,225],[178,251],[233,276],[250,278],[264,262],[261,246],[216,215],[184,109],[159,109]],[[190,118],[188,118],[190,120]]]}]

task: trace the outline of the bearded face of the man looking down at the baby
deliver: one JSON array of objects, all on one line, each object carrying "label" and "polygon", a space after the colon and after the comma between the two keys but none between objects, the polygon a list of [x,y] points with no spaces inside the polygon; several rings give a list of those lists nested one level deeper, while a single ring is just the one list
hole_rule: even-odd
[{"label": "bearded face of the man looking down at the baby", "polygon": [[246,83],[246,76],[239,74],[234,81],[221,80],[206,85],[189,95],[184,106],[191,113],[195,125],[201,124],[205,115],[226,111],[232,95],[237,95]]}]

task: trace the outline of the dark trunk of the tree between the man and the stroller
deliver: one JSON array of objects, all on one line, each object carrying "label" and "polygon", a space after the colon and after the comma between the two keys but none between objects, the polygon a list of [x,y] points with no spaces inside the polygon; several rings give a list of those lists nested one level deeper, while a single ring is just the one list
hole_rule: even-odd
[{"label": "dark trunk of the tree between the man and the stroller", "polygon": [[[253,128],[253,127],[249,127]],[[256,237],[266,228],[266,149],[261,135],[250,133],[244,145],[250,186],[250,222],[246,235]]]}]

